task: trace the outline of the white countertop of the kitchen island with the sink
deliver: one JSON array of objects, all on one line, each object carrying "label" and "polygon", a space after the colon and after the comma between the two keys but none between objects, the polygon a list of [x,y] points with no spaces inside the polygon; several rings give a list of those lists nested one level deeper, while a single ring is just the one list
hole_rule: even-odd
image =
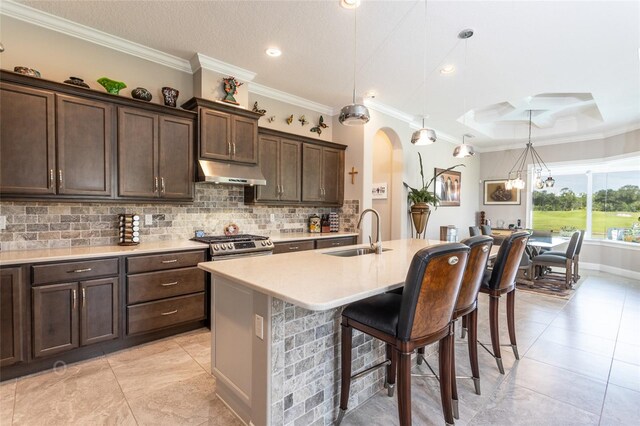
[{"label": "white countertop of the kitchen island with the sink", "polygon": [[443,244],[437,240],[394,240],[382,254],[338,257],[323,253],[367,244],[203,262],[201,269],[213,278],[231,282],[314,311],[333,309],[400,287],[413,255],[420,249]]}]

